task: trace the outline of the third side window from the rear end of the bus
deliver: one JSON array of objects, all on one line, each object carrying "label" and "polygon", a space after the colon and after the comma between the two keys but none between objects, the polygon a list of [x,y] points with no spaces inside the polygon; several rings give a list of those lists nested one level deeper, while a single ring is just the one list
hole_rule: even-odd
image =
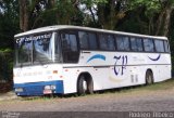
[{"label": "third side window from the rear end of the bus", "polygon": [[144,39],[144,47],[146,52],[154,52],[154,44],[152,39]]}]

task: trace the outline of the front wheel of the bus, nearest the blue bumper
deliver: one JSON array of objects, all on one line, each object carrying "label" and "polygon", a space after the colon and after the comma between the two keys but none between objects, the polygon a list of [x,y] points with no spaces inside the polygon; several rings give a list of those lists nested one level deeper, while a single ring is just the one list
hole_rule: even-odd
[{"label": "front wheel of the bus, nearest the blue bumper", "polygon": [[78,95],[92,94],[94,93],[94,82],[90,76],[82,75],[77,81],[77,93]]}]

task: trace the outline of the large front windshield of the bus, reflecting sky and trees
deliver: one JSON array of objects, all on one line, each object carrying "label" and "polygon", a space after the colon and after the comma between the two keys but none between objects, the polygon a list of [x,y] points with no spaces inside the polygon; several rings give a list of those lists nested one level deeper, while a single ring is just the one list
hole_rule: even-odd
[{"label": "large front windshield of the bus, reflecting sky and trees", "polygon": [[42,65],[58,61],[60,51],[54,51],[54,36],[51,32],[17,38],[16,65]]}]

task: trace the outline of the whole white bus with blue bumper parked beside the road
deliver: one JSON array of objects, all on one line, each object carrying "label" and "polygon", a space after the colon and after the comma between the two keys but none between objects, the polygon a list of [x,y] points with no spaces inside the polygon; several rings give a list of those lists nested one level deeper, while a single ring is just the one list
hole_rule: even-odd
[{"label": "whole white bus with blue bumper parked beside the road", "polygon": [[17,95],[92,93],[171,78],[166,37],[78,26],[15,35]]}]

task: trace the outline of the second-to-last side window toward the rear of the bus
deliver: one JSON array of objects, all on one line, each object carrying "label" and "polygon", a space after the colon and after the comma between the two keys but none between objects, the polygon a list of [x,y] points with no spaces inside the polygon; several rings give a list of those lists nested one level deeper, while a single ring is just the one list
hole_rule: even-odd
[{"label": "second-to-last side window toward the rear of the bus", "polygon": [[154,45],[157,52],[164,52],[163,40],[154,40]]}]

